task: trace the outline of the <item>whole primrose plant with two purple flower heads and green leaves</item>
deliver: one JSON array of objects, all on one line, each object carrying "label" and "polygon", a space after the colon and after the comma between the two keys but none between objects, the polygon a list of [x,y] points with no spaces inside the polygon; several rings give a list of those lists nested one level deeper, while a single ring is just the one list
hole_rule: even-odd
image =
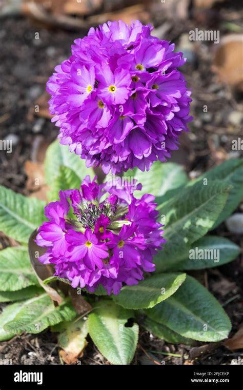
[{"label": "whole primrose plant with two purple flower heads and green leaves", "polygon": [[211,230],[243,197],[243,161],[193,181],[165,162],[188,131],[191,99],[183,53],[151,31],[138,21],[91,29],[48,81],[62,144],[46,154],[49,203],[0,186],[0,230],[16,241],[0,251],[0,341],[51,327],[66,362],[89,334],[112,364],[129,364],[138,326],[171,343],[229,335],[190,271],[239,254]]}]

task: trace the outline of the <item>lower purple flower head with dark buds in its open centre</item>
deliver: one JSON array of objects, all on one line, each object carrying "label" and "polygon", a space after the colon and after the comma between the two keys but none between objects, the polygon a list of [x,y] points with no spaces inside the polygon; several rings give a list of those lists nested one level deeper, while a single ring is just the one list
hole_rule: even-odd
[{"label": "lower purple flower head with dark buds in its open centre", "polygon": [[135,189],[141,185],[98,185],[87,176],[80,190],[60,191],[60,201],[46,206],[49,221],[36,236],[37,245],[47,248],[40,262],[54,264],[55,276],[90,292],[101,284],[118,294],[124,283],[144,279],[165,240],[154,196],[136,199]]}]

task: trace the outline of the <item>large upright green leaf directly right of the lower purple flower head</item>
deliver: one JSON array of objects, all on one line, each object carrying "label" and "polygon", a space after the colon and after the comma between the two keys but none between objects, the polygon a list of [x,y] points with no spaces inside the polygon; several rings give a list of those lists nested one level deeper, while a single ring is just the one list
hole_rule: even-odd
[{"label": "large upright green leaf directly right of the lower purple flower head", "polygon": [[157,208],[165,221],[167,243],[155,256],[156,272],[165,271],[187,256],[189,246],[213,226],[228,197],[228,185],[196,182]]}]

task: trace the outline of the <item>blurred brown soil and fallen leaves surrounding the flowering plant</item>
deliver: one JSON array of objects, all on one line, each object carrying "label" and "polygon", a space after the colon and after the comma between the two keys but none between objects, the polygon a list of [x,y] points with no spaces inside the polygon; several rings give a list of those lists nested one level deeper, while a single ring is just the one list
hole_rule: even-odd
[{"label": "blurred brown soil and fallen leaves surrounding the flowering plant", "polygon": [[[184,165],[193,179],[225,160],[242,157],[242,16],[237,0],[0,0],[0,140],[12,144],[11,153],[0,149],[0,184],[45,199],[43,161],[47,146],[58,134],[50,121],[46,82],[54,67],[70,56],[75,38],[108,20],[151,23],[153,35],[175,43],[176,50],[187,57],[180,70],[192,90],[194,121],[190,132],[181,136],[172,161]],[[218,233],[234,236],[222,227]],[[242,232],[235,241],[242,244]],[[234,329],[242,321],[242,265],[238,259],[220,271],[211,270],[209,282],[206,274],[200,276],[220,301],[232,301],[226,309]],[[162,343],[148,332],[140,337],[142,349],[159,348]],[[22,339],[24,346],[13,342],[14,363],[59,364],[57,352],[50,353],[51,338],[50,334],[29,335]],[[28,347],[36,342],[40,349]],[[230,364],[232,356],[216,347],[198,347],[190,353],[200,356],[199,364]],[[88,347],[84,364],[106,364],[92,348]],[[177,346],[163,348],[180,353]],[[30,357],[28,350],[35,350],[37,357]],[[180,364],[176,356],[168,359],[169,364]]]}]

